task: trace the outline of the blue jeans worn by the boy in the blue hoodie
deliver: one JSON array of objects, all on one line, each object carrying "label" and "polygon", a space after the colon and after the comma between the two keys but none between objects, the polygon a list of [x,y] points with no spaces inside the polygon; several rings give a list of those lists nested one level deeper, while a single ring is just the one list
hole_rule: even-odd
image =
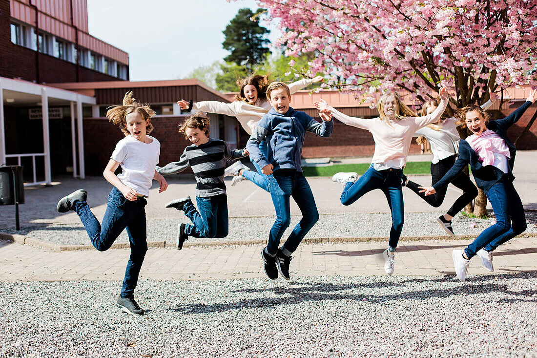
[{"label": "blue jeans worn by the boy in the blue hoodie", "polygon": [[291,255],[299,246],[300,241],[319,220],[319,213],[315,205],[315,199],[304,174],[294,169],[279,169],[269,175],[269,189],[272,203],[276,210],[276,221],[269,233],[269,245],[267,252],[275,255],[278,245],[285,230],[291,224],[291,206],[289,197],[293,197],[302,213],[302,219],[296,224],[289,234],[281,250],[286,255]]}]

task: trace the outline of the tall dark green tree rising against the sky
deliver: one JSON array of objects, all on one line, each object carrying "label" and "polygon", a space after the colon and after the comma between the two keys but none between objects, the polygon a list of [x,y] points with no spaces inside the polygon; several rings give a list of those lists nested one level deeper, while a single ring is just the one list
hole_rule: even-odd
[{"label": "tall dark green tree rising against the sky", "polygon": [[222,31],[222,46],[231,54],[226,56],[224,61],[245,66],[249,70],[263,62],[265,54],[270,53],[270,49],[265,46],[270,43],[270,40],[265,38],[270,30],[255,21],[263,12],[263,9],[257,9],[255,13],[248,8],[240,9],[229,22],[226,30]]}]

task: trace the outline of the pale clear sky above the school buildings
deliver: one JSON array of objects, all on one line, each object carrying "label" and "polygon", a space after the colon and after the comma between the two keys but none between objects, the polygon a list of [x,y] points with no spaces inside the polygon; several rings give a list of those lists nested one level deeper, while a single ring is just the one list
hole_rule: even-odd
[{"label": "pale clear sky above the school buildings", "polygon": [[[130,81],[184,78],[229,54],[222,31],[254,0],[88,0],[89,33],[129,54]],[[279,31],[270,24],[269,39]]]}]

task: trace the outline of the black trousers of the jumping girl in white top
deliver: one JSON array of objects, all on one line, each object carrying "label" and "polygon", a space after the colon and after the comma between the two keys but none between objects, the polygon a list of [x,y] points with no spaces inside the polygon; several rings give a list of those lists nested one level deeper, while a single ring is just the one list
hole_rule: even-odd
[{"label": "black trousers of the jumping girl in white top", "polygon": [[[448,156],[445,159],[442,159],[436,164],[431,163],[431,185],[436,184],[455,163],[455,155]],[[455,177],[451,182],[455,187],[462,190],[462,195],[456,199],[453,206],[447,211],[448,215],[455,216],[456,213],[461,211],[466,205],[471,203],[474,198],[477,196],[477,188],[474,183],[471,182],[470,178],[466,174],[461,173]],[[418,187],[423,187],[423,185],[417,184],[412,181],[407,181],[407,187],[419,195],[424,201],[429,205],[434,207],[439,207],[444,202],[446,197],[447,187],[439,189],[433,195],[425,196],[423,192],[419,192]]]}]

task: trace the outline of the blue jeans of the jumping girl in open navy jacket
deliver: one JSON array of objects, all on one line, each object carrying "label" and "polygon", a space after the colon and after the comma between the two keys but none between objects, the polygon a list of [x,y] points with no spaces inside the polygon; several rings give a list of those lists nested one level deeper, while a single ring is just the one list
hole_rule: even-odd
[{"label": "blue jeans of the jumping girl in open navy jacket", "polygon": [[504,242],[511,240],[526,230],[524,206],[520,201],[513,182],[504,175],[485,193],[496,214],[496,224],[487,227],[465,249],[466,256],[471,259],[482,248],[494,251]]}]

